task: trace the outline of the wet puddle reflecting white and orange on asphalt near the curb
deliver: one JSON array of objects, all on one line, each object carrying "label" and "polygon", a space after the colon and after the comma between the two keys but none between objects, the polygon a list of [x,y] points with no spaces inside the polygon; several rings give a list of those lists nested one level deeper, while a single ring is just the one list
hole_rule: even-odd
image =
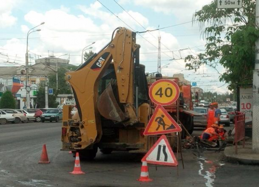
[{"label": "wet puddle reflecting white and orange on asphalt near the curb", "polygon": [[[207,160],[203,156],[197,157],[197,159],[198,159],[198,164],[200,165],[200,170],[198,171],[198,174],[203,176],[204,179],[206,179],[206,182],[205,182],[206,187],[213,187],[214,180],[216,178],[215,173],[216,173],[217,168],[219,168],[225,164],[220,163],[219,161]],[[208,168],[208,170],[204,169],[204,168]]]}]

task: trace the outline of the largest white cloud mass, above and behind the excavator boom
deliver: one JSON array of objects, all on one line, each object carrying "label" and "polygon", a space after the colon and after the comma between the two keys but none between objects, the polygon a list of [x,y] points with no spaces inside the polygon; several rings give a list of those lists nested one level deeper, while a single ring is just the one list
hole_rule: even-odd
[{"label": "largest white cloud mass, above and behind the excavator boom", "polygon": [[[73,15],[62,9],[49,10],[44,13],[35,11],[28,12],[24,18],[27,22],[33,26],[38,25],[42,21],[44,25],[40,26],[40,32],[37,32],[41,36],[41,41],[37,44],[37,47],[32,49],[38,51],[40,54],[44,54],[48,50],[53,50],[55,53],[63,51],[64,53],[70,53],[72,63],[81,62],[81,50],[95,41],[92,45],[93,51],[98,52],[105,46],[112,36],[113,30],[118,26],[126,26],[117,17],[110,12],[105,12],[100,3],[95,2],[89,7],[78,6],[85,15]],[[101,9],[102,8],[102,9]],[[148,27],[148,19],[139,12],[129,11],[135,19],[148,29],[154,29]],[[118,13],[118,16],[128,23],[133,28],[139,27],[138,23],[134,21],[126,12]],[[94,21],[93,21],[94,20]],[[98,23],[96,22],[98,20]],[[126,26],[128,28],[128,26]],[[23,32],[27,30],[25,26],[21,27]],[[179,48],[177,39],[169,33],[160,32],[162,43],[169,49]],[[142,34],[150,43],[158,47],[158,32],[152,32]],[[152,46],[149,42],[137,35],[137,43],[141,45],[141,52],[154,52],[157,48]],[[161,51],[169,50],[161,45]],[[37,54],[38,54],[37,53]],[[162,58],[170,59],[172,55],[164,56]],[[140,56],[142,60],[155,58],[157,59],[157,53],[152,55],[143,54]]]}]

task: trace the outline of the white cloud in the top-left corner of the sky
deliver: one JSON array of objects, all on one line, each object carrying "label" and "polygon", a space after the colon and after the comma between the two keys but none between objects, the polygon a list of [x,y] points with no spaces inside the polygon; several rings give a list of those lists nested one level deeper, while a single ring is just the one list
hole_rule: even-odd
[{"label": "white cloud in the top-left corner of the sky", "polygon": [[8,0],[1,3],[0,6],[0,28],[6,28],[14,25],[17,18],[12,16],[12,9],[16,5],[16,0]]}]

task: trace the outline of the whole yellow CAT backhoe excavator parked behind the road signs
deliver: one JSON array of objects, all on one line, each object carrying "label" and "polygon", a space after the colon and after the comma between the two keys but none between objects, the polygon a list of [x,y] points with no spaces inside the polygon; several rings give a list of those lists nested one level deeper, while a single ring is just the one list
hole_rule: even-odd
[{"label": "whole yellow CAT backhoe excavator parked behind the road signs", "polygon": [[72,117],[71,106],[63,108],[61,150],[93,159],[98,148],[145,153],[153,145],[155,139],[143,135],[151,107],[139,49],[136,33],[118,27],[101,51],[66,73],[78,113]]}]

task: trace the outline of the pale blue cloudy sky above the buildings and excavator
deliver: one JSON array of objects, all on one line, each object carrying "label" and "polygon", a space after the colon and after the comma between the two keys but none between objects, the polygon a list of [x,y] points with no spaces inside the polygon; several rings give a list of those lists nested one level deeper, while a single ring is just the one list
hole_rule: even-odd
[{"label": "pale blue cloudy sky above the buildings and excavator", "polygon": [[[27,32],[30,64],[48,56],[81,64],[82,49],[90,45],[98,52],[110,40],[118,26],[145,31],[170,26],[159,31],[137,34],[140,63],[146,72],[157,71],[158,36],[161,36],[162,74],[183,73],[205,91],[225,93],[227,84],[219,82],[217,70],[202,66],[196,72],[185,68],[184,57],[198,54],[204,41],[193,14],[211,0],[0,0],[0,66],[25,65]],[[189,23],[186,23],[189,22]],[[5,63],[9,62],[9,63]],[[1,68],[1,67],[0,67]]]}]

